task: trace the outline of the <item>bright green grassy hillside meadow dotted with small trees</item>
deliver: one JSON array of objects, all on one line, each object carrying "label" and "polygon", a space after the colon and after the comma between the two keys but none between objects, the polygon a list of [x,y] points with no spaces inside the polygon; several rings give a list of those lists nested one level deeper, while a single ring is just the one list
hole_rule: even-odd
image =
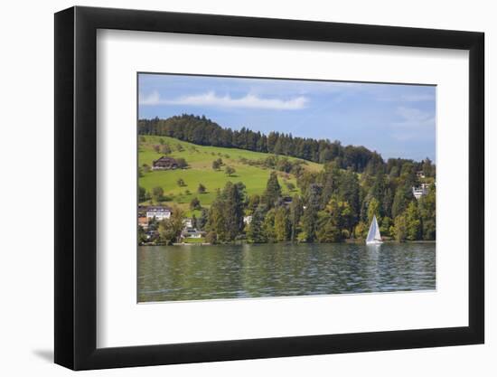
[{"label": "bright green grassy hillside meadow dotted with small trees", "polygon": [[[160,145],[160,139],[163,139],[164,144],[169,145],[172,149],[172,153],[168,156],[184,158],[189,165],[186,169],[150,171],[144,173],[139,178],[139,185],[149,193],[156,186],[164,189],[164,195],[172,198],[171,201],[164,202],[165,205],[178,205],[187,211],[187,215],[191,215],[192,212],[189,211],[189,203],[192,198],[199,198],[202,207],[209,207],[215,198],[216,189],[222,189],[229,181],[245,184],[248,195],[263,193],[266,188],[267,178],[271,173],[271,169],[243,164],[240,162],[240,159],[259,160],[270,155],[243,149],[197,146],[173,137],[146,136],[145,141],[142,137],[139,137],[138,166],[144,164],[152,166],[154,160],[164,156],[154,150],[155,145]],[[212,162],[218,158],[221,158],[224,163],[219,171],[212,169]],[[288,159],[297,160],[294,157],[288,157]],[[236,173],[228,176],[224,171],[226,165],[235,168]],[[309,161],[305,162],[304,167],[312,171],[322,169],[322,165]],[[277,173],[283,193],[290,195],[298,193],[298,189],[295,188],[294,192],[290,193],[286,187],[286,182],[291,182],[296,187],[295,176],[293,174]],[[183,187],[177,184],[180,178],[186,184]],[[203,184],[207,188],[206,193],[197,193],[199,184]],[[190,193],[187,193],[187,190]],[[196,214],[198,215],[198,212]]]}]

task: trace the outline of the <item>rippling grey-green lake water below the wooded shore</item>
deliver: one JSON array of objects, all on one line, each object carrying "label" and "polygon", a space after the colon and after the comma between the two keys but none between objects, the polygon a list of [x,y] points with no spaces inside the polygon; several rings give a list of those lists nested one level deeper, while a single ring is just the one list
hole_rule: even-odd
[{"label": "rippling grey-green lake water below the wooded shore", "polygon": [[435,243],[138,248],[139,302],[435,288]]}]

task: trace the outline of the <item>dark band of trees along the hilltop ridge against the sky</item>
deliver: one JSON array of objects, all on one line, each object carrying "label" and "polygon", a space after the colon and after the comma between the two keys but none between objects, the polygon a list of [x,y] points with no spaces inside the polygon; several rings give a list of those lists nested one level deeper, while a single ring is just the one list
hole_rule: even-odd
[{"label": "dark band of trees along the hilltop ridge against the sky", "polygon": [[[335,162],[342,169],[351,168],[354,172],[375,174],[381,167],[386,172],[408,161],[425,170],[427,176],[435,176],[435,170],[423,168],[423,162],[412,160],[390,160],[385,165],[380,154],[364,146],[342,146],[340,141],[316,140],[309,137],[293,137],[292,134],[270,132],[268,135],[252,131],[246,127],[240,130],[220,127],[204,116],[183,114],[167,119],[153,118],[138,121],[140,135],[175,137],[201,146],[224,146],[246,149],[255,152],[293,156],[307,161],[326,164]],[[431,165],[435,168],[434,165]]]}]

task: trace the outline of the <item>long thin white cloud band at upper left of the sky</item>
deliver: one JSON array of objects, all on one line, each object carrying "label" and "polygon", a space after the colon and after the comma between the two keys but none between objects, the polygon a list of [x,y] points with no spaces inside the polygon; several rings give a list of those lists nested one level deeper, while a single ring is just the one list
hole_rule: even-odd
[{"label": "long thin white cloud band at upper left of the sky", "polygon": [[265,108],[277,110],[298,110],[305,108],[309,99],[304,96],[294,99],[267,99],[254,94],[244,97],[232,98],[230,95],[219,96],[214,91],[183,96],[177,99],[161,99],[157,91],[148,96],[140,96],[139,103],[144,106],[157,105],[187,105],[187,106],[213,106],[218,108]]}]

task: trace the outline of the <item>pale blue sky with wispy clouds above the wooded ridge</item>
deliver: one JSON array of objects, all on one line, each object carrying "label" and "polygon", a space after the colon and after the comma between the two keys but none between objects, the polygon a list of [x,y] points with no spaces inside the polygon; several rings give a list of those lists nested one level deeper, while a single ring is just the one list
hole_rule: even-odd
[{"label": "pale blue sky with wispy clouds above the wooded ridge", "polygon": [[221,127],[340,140],[435,161],[436,87],[140,73],[138,117],[205,115]]}]

